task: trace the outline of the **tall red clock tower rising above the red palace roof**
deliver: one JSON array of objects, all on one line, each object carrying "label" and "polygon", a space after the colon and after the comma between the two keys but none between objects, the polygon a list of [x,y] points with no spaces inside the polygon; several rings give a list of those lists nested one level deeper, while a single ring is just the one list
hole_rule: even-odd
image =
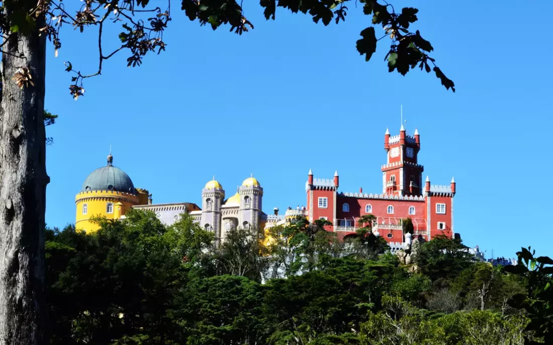
[{"label": "tall red clock tower rising above the red palace roof", "polygon": [[413,136],[405,132],[401,125],[399,135],[390,136],[386,129],[384,150],[388,161],[382,166],[382,193],[395,195],[422,195],[422,172],[418,164],[420,135],[415,129]]}]

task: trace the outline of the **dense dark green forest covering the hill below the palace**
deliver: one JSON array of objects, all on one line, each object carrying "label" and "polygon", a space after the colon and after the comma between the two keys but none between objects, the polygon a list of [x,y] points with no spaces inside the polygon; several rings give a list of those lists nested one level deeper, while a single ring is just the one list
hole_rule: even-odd
[{"label": "dense dark green forest covering the hill below the palace", "polygon": [[[460,240],[415,239],[395,255],[367,227],[338,241],[298,219],[220,246],[190,217],[98,219],[92,234],[46,231],[53,344],[551,343],[547,257],[506,268]],[[406,229],[409,231],[409,229]],[[405,259],[405,258],[408,259]]]}]

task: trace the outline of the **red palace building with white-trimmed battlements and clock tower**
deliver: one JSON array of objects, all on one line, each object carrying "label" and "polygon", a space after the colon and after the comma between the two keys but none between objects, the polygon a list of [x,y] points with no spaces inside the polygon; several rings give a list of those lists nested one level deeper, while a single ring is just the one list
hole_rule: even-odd
[{"label": "red palace building with white-trimmed battlements and clock tower", "polygon": [[[391,157],[391,151],[394,147],[398,147],[400,154],[397,157]],[[339,193],[338,189],[338,173],[335,173],[333,179],[314,179],[311,170],[307,178],[307,212],[310,216],[310,221],[313,222],[320,217],[326,217],[328,221],[334,224],[328,226],[328,231],[336,231],[338,237],[353,235],[354,231],[349,231],[349,227],[358,229],[361,224],[358,224],[359,217],[366,214],[373,214],[377,217],[377,224],[374,225],[373,231],[378,230],[388,242],[403,242],[403,230],[401,229],[401,219],[407,217],[413,221],[415,235],[427,237],[430,230],[430,239],[437,235],[446,235],[453,237],[453,197],[456,192],[456,184],[452,180],[450,185],[434,186],[430,184],[427,178],[426,182],[422,181],[422,172],[424,167],[419,165],[418,153],[420,150],[420,135],[418,130],[415,130],[414,136],[407,135],[403,126],[398,136],[390,136],[387,130],[384,135],[384,148],[387,153],[387,163],[395,163],[390,166],[385,164],[381,171],[385,172],[383,189],[388,191],[388,195],[380,193],[367,197],[367,194],[354,193]],[[407,149],[410,151],[407,154]],[[413,164],[415,163],[415,164]],[[395,176],[395,188],[387,187],[391,175]],[[404,179],[400,177],[403,174]],[[411,181],[411,175],[413,181]],[[382,175],[381,175],[382,176]],[[400,189],[400,184],[403,182],[403,190]],[[411,184],[411,182],[413,182]],[[411,189],[409,188],[412,186]],[[410,197],[409,195],[411,195]],[[313,200],[310,200],[312,195]],[[406,196],[407,195],[407,196]],[[319,208],[319,198],[325,197],[328,200],[326,209]],[[335,204],[336,198],[336,204]],[[413,198],[413,199],[410,199]],[[349,211],[343,211],[343,204],[349,205]],[[372,206],[372,211],[366,212],[366,205]],[[436,212],[436,204],[445,204],[445,214]],[[388,214],[388,206],[393,206],[393,214]],[[409,214],[409,208],[415,208],[415,214]],[[336,216],[335,216],[336,215]],[[348,224],[341,224],[341,221],[350,220]],[[444,223],[444,230],[440,230],[438,222]],[[354,230],[351,229],[351,230]],[[390,237],[388,237],[391,234]],[[429,238],[426,238],[427,240]]]}]

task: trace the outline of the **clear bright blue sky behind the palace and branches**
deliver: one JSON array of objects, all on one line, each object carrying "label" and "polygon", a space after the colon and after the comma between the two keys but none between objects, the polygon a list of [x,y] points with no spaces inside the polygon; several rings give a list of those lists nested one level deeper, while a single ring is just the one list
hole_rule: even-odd
[{"label": "clear bright blue sky behind the palace and branches", "polygon": [[[75,194],[109,145],[114,164],[154,203],[199,203],[213,175],[232,195],[253,173],[265,212],[283,210],[305,204],[310,168],[321,178],[338,169],[343,192],[379,193],[384,131],[398,133],[403,104],[407,130],[421,135],[424,174],[432,184],[455,176],[455,230],[465,244],[487,257],[530,245],[551,256],[553,51],[540,33],[553,3],[528,11],[514,1],[393,4],[420,9],[415,28],[456,93],[418,70],[388,73],[386,40],[365,62],[355,49],[370,25],[360,3],[345,23],[325,27],[283,9],[267,22],[251,2],[244,9],[255,29],[242,36],[200,27],[174,7],[164,53],[138,68],[119,54],[77,101],[63,63],[95,72],[97,46],[92,30],[66,28],[59,57],[49,47],[47,62],[46,109],[60,116],[47,130],[47,224],[75,221]],[[118,31],[108,31],[105,50]]]}]

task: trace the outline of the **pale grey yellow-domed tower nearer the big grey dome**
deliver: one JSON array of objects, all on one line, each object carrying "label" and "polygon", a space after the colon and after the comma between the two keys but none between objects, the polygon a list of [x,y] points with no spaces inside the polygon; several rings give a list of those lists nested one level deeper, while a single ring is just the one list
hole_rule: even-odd
[{"label": "pale grey yellow-domed tower nearer the big grey dome", "polygon": [[221,205],[225,199],[223,186],[215,181],[207,182],[202,189],[202,220],[201,226],[215,233],[215,240],[221,237]]}]

